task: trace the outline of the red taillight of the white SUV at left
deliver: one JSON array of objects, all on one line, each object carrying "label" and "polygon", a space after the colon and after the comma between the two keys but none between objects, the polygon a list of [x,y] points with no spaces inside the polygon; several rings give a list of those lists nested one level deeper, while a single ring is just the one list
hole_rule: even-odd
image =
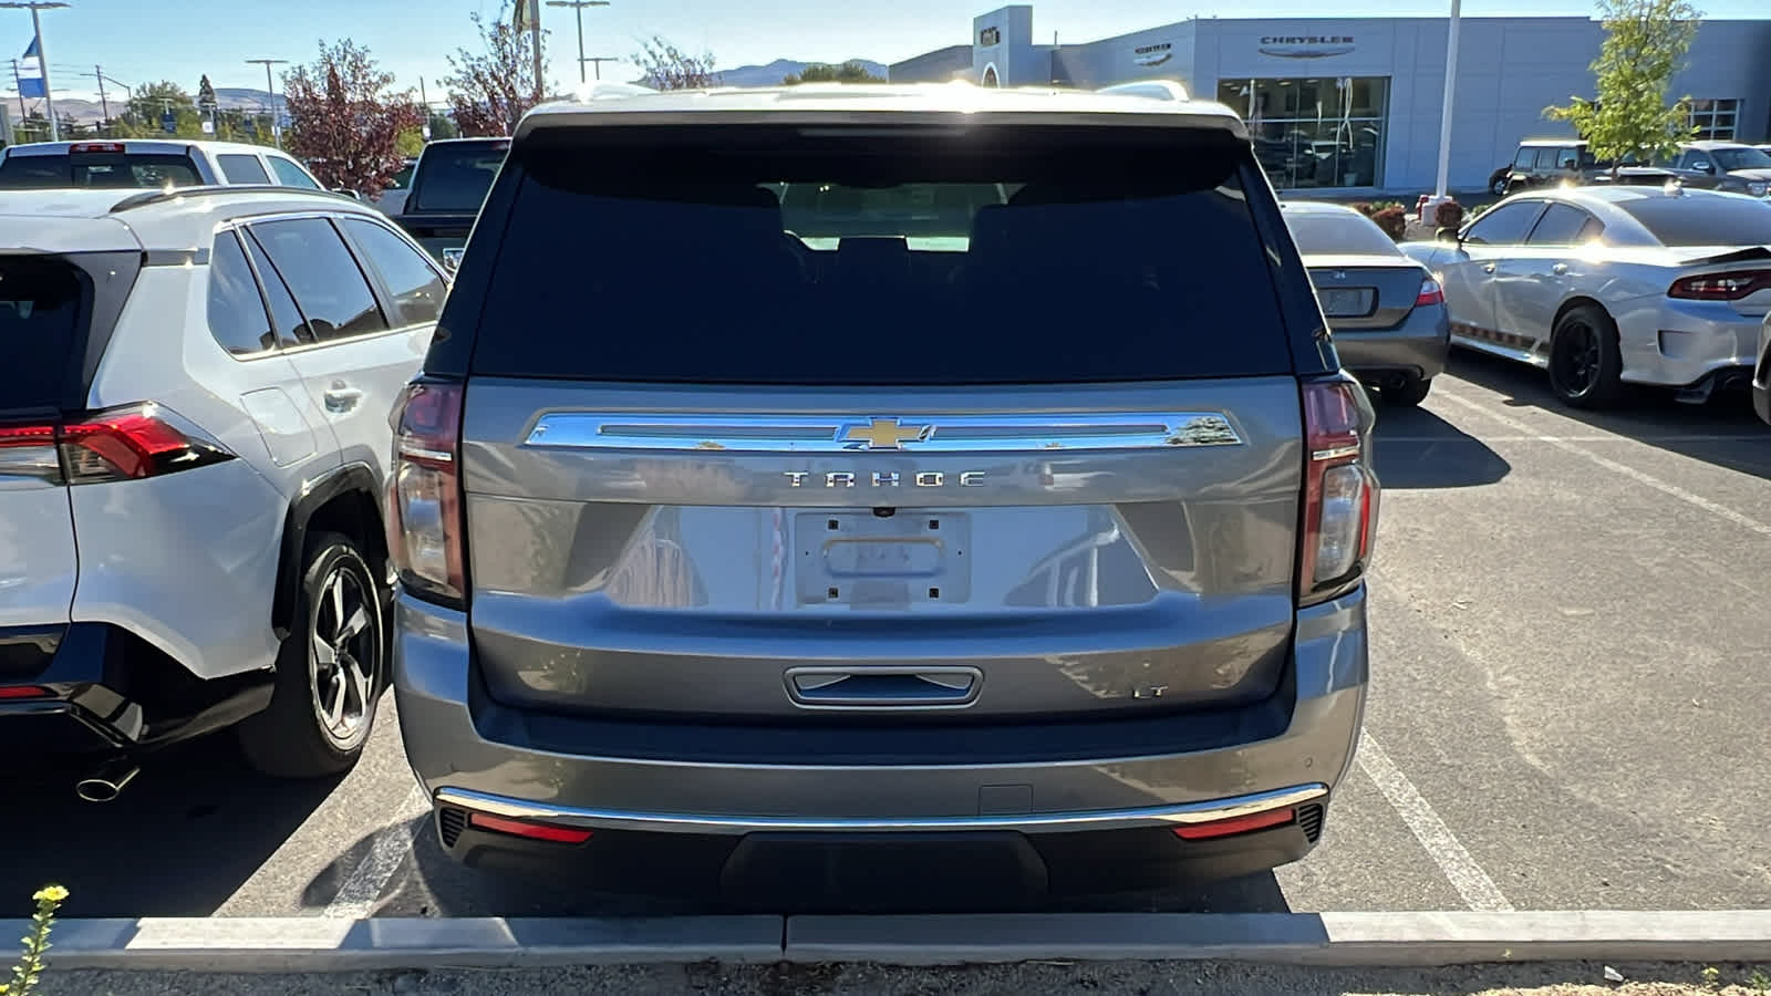
[{"label": "red taillight of the white SUV at left", "polygon": [[220,445],[174,425],[158,404],[135,404],[62,424],[0,425],[0,450],[53,455],[55,477],[66,484],[138,480],[234,459]]}]

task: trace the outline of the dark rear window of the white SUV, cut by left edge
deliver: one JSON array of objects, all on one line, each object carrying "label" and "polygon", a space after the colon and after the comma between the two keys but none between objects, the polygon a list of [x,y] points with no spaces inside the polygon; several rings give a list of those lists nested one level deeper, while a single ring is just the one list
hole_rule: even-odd
[{"label": "dark rear window of the white SUV, cut by left edge", "polygon": [[85,335],[85,280],[53,259],[0,255],[0,409],[55,408]]}]

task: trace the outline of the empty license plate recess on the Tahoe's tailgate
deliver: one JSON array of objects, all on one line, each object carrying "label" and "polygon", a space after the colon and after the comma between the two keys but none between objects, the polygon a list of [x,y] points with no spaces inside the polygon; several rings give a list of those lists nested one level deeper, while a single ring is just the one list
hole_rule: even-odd
[{"label": "empty license plate recess on the Tahoe's tailgate", "polygon": [[800,604],[963,603],[971,519],[953,512],[802,512],[793,519]]}]

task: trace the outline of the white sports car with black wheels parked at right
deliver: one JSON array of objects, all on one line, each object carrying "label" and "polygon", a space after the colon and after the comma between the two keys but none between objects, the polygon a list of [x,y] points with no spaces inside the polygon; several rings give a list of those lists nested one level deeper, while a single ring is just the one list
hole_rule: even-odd
[{"label": "white sports car with black wheels parked at right", "polygon": [[1403,252],[1438,275],[1454,344],[1546,369],[1578,408],[1746,386],[1771,312],[1771,202],[1737,193],[1534,190]]}]

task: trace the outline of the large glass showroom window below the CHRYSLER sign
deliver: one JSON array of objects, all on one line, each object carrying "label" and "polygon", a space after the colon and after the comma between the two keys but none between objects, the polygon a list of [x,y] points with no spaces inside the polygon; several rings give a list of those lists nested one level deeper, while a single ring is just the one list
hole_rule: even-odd
[{"label": "large glass showroom window below the CHRYSLER sign", "polygon": [[1388,76],[1218,80],[1280,190],[1381,186]]}]

